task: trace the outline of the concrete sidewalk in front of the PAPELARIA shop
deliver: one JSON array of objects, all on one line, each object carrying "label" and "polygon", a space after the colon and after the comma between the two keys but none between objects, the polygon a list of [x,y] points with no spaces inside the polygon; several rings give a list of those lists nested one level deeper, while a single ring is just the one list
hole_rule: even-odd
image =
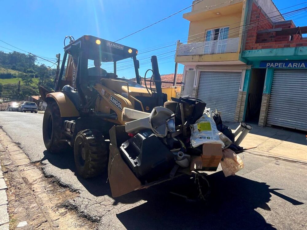
[{"label": "concrete sidewalk in front of the PAPELARIA shop", "polygon": [[[239,123],[225,123],[234,130]],[[252,124],[253,129],[240,144],[252,154],[266,155],[307,163],[306,134],[272,127],[260,127]]]}]

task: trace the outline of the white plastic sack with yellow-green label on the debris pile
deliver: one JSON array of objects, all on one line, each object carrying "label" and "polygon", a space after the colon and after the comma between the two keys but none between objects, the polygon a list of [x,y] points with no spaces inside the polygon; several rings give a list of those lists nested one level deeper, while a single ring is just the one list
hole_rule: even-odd
[{"label": "white plastic sack with yellow-green label on the debris pile", "polygon": [[220,140],[219,131],[212,116],[212,111],[205,109],[204,114],[191,127],[191,144],[195,148],[202,144],[221,144],[225,147],[223,141]]}]

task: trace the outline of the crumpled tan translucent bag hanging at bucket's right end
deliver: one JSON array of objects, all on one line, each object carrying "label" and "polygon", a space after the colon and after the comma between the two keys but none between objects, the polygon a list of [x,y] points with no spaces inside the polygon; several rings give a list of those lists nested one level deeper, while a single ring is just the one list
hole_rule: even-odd
[{"label": "crumpled tan translucent bag hanging at bucket's right end", "polygon": [[241,169],[244,168],[242,159],[231,149],[223,150],[221,166],[225,177],[228,177],[230,175],[234,176],[235,173],[239,172]]}]

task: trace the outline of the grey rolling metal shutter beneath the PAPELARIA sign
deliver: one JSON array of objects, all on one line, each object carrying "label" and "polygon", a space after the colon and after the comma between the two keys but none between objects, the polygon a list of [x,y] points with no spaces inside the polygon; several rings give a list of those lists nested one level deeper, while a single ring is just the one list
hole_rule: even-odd
[{"label": "grey rolling metal shutter beneath the PAPELARIA sign", "polygon": [[267,124],[307,130],[307,70],[275,70]]}]

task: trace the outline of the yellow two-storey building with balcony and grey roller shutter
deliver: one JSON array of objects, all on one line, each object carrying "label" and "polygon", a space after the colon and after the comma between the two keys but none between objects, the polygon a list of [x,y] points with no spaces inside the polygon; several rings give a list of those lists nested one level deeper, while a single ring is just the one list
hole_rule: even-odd
[{"label": "yellow two-storey building with balcony and grey roller shutter", "polygon": [[224,120],[238,121],[238,96],[250,68],[240,60],[247,1],[196,0],[193,4],[192,11],[183,14],[190,21],[188,41],[178,43],[175,58],[185,65],[181,96],[203,99],[207,107],[221,111]]}]

